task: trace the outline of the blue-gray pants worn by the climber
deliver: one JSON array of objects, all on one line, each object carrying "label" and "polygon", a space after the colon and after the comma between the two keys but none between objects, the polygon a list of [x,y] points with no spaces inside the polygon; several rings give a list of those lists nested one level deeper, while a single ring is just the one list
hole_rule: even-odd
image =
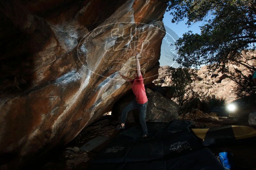
[{"label": "blue-gray pants worn by the climber", "polygon": [[147,105],[148,102],[144,104],[140,104],[136,101],[134,98],[128,105],[122,110],[120,121],[121,123],[125,124],[126,118],[127,118],[127,113],[130,110],[134,110],[136,108],[139,109],[139,119],[140,119],[140,124],[141,124],[141,129],[142,129],[142,135],[147,135],[148,134],[148,128],[146,125],[146,111],[147,111]]}]

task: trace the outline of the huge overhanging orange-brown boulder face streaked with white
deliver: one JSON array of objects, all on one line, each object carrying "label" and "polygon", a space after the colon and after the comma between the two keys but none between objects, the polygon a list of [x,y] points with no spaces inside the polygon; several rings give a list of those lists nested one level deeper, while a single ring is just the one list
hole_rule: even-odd
[{"label": "huge overhanging orange-brown boulder face streaked with white", "polygon": [[[164,1],[1,2],[1,168],[70,142],[130,89],[158,77]],[[8,159],[6,158],[8,155]]]}]

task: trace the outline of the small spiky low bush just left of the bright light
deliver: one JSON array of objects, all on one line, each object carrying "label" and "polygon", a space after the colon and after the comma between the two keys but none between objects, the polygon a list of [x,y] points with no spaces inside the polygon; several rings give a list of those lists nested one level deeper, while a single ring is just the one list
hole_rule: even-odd
[{"label": "small spiky low bush just left of the bright light", "polygon": [[204,108],[222,107],[226,104],[225,98],[209,95],[202,99]]}]

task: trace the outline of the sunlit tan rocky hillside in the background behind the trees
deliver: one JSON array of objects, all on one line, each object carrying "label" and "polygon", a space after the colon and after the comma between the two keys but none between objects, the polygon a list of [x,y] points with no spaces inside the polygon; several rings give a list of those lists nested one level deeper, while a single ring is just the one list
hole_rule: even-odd
[{"label": "sunlit tan rocky hillside in the background behind the trees", "polygon": [[[250,65],[256,67],[256,60],[252,59],[248,61]],[[246,74],[244,67],[237,67],[235,65],[228,65],[229,73],[237,74],[237,71],[241,71]],[[163,66],[159,68],[158,79],[154,80],[153,83],[157,86],[169,86],[172,78],[171,71],[174,68],[169,66]],[[234,81],[229,79],[230,74],[222,74],[220,71],[215,71],[210,73],[207,71],[207,66],[201,67],[197,71],[197,81],[195,82],[194,91],[201,92],[203,95],[215,95],[226,99],[227,103],[236,100],[236,95],[234,94],[234,88],[236,84]]]}]

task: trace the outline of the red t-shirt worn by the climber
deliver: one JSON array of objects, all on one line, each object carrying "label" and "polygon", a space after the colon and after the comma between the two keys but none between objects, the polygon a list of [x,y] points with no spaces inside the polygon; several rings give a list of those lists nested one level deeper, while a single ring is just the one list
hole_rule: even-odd
[{"label": "red t-shirt worn by the climber", "polygon": [[132,91],[135,95],[136,101],[140,104],[146,103],[148,98],[146,96],[142,74],[140,77],[137,76],[134,80],[130,80],[130,83],[132,83]]}]

